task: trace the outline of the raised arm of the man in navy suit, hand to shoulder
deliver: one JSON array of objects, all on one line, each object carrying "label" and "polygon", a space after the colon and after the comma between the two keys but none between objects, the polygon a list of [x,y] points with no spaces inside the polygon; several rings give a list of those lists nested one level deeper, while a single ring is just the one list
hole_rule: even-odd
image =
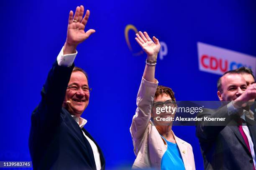
[{"label": "raised arm of the man in navy suit, hand to shoulder", "polygon": [[[51,68],[47,80],[41,90],[41,102],[32,114],[33,123],[37,126],[53,127],[59,122],[61,107],[67,90],[67,85],[74,67],[73,61],[76,56],[76,47],[86,40],[95,30],[84,32],[85,25],[89,19],[90,11],[84,14],[84,7],[77,7],[73,17],[73,12],[69,12],[69,23],[67,39],[61,50],[57,61]],[[46,128],[41,128],[41,130]]]}]

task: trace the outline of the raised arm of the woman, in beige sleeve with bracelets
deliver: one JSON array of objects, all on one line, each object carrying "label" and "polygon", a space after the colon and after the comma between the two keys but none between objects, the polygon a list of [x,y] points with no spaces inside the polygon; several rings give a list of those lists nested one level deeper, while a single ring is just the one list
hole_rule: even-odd
[{"label": "raised arm of the woman, in beige sleeve with bracelets", "polygon": [[137,95],[136,114],[133,116],[130,128],[135,154],[139,150],[139,143],[143,138],[143,134],[146,132],[151,117],[151,105],[158,85],[155,79],[156,58],[160,50],[160,43],[156,37],[153,37],[153,42],[147,32],[144,32],[144,34],[139,32],[136,36],[136,41],[147,53],[147,61]]}]

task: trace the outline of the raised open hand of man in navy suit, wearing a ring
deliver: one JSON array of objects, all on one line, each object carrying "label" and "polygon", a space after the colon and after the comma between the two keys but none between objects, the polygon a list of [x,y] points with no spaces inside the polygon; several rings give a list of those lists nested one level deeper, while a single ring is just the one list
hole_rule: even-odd
[{"label": "raised open hand of man in navy suit, wearing a ring", "polygon": [[67,40],[64,45],[64,54],[75,53],[76,47],[79,43],[86,40],[95,30],[90,29],[86,32],[84,28],[90,16],[90,11],[86,10],[84,15],[84,6],[77,7],[73,17],[73,11],[69,12],[69,25],[67,29]]}]

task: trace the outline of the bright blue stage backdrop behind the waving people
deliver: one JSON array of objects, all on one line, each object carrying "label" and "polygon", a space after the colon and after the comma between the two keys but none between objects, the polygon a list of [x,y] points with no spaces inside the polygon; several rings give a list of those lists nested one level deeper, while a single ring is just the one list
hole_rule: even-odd
[{"label": "bright blue stage backdrop behind the waving people", "polygon": [[[129,128],[146,54],[140,53],[134,30],[147,31],[162,42],[156,79],[172,87],[179,101],[218,100],[220,75],[199,70],[197,42],[256,56],[253,0],[3,1],[0,161],[31,160],[31,113],[64,45],[69,10],[77,5],[90,9],[86,29],[96,30],[78,46],[75,60],[75,65],[88,72],[93,88],[82,117],[102,148],[107,169],[130,168],[135,160]],[[195,127],[173,130],[193,146],[196,168],[203,169]]]}]

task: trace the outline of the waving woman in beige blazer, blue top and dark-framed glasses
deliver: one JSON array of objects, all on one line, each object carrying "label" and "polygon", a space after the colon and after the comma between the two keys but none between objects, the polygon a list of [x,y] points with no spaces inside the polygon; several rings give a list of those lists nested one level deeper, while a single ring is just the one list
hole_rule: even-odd
[{"label": "waving woman in beige blazer, blue top and dark-framed glasses", "polygon": [[158,86],[155,79],[159,40],[153,37],[153,42],[146,32],[141,31],[136,36],[147,59],[130,128],[136,155],[133,168],[195,170],[192,146],[172,131],[170,117],[175,114],[161,110],[166,106],[175,107],[176,103],[172,89]]}]

